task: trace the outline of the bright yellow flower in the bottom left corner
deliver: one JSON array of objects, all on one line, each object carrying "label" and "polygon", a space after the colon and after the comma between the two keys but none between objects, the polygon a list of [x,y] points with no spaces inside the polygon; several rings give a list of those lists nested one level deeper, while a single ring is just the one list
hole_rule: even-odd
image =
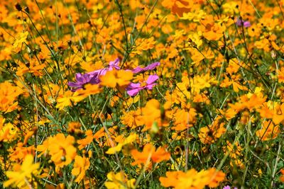
[{"label": "bright yellow flower in the bottom left corner", "polygon": [[13,167],[14,171],[7,171],[6,176],[9,178],[4,183],[4,187],[26,188],[31,185],[31,178],[38,173],[39,163],[33,164],[33,155],[28,154],[23,160],[23,164],[16,164]]}]

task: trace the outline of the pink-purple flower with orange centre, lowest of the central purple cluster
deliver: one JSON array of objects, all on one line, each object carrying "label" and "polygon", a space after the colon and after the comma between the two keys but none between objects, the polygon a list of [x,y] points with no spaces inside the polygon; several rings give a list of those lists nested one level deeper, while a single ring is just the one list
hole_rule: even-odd
[{"label": "pink-purple flower with orange centre, lowest of the central purple cluster", "polygon": [[129,94],[129,96],[136,96],[136,94],[138,94],[139,91],[145,88],[148,90],[152,90],[153,86],[156,85],[155,81],[157,81],[158,79],[159,79],[159,76],[150,75],[145,83],[143,82],[143,83],[138,83],[138,84],[134,84],[134,83],[129,84],[129,86],[126,88],[126,91]]}]

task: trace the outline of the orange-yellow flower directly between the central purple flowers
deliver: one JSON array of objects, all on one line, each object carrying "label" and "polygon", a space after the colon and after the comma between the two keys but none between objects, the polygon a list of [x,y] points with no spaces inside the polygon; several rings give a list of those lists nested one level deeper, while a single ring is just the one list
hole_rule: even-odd
[{"label": "orange-yellow flower directly between the central purple flowers", "polygon": [[101,84],[102,86],[109,86],[111,88],[115,88],[116,85],[127,86],[132,77],[133,73],[131,71],[111,70],[107,71],[107,74],[101,77]]}]

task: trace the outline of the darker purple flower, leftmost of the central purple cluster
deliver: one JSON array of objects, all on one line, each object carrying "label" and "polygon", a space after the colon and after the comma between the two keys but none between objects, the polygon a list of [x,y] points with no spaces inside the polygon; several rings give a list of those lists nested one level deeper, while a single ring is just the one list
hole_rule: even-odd
[{"label": "darker purple flower, leftmost of the central purple cluster", "polygon": [[68,86],[72,87],[71,91],[77,91],[80,88],[83,88],[84,84],[99,84],[99,80],[95,76],[90,76],[89,74],[80,74],[77,73],[76,82],[68,82]]}]

